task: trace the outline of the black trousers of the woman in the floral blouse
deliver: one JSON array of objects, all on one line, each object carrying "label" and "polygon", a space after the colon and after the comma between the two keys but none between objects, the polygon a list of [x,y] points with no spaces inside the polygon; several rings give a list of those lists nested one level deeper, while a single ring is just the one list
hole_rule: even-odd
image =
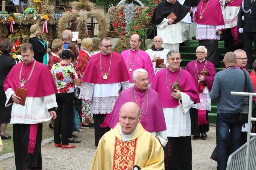
[{"label": "black trousers of the woman in the floral blouse", "polygon": [[54,120],[54,143],[60,143],[60,135],[62,135],[61,143],[68,144],[68,126],[74,98],[74,93],[56,93],[58,108],[57,117]]}]

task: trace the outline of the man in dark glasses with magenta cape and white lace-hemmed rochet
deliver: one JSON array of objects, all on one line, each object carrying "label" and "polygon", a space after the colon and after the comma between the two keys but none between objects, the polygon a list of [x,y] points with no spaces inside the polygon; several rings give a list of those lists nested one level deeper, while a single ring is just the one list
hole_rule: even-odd
[{"label": "man in dark glasses with magenta cape and white lace-hemmed rochet", "polygon": [[[120,54],[112,51],[109,38],[99,42],[100,53],[92,55],[84,76],[79,99],[91,103],[94,119],[95,146],[109,128],[100,127],[115,105],[118,91],[129,86],[129,75]],[[109,116],[110,117],[110,116]]]}]

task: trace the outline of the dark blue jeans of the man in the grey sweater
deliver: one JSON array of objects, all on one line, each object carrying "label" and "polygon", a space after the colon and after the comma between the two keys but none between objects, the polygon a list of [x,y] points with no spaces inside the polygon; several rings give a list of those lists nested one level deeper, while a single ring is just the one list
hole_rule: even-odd
[{"label": "dark blue jeans of the man in the grey sweater", "polygon": [[217,114],[216,144],[217,144],[217,170],[226,170],[227,167],[227,138],[230,129],[230,146],[232,152],[240,148],[242,123],[239,122],[239,113]]}]

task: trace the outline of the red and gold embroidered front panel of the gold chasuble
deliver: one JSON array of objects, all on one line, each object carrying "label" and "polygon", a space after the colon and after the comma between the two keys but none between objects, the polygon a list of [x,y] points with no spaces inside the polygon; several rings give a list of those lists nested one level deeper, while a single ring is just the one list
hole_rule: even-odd
[{"label": "red and gold embroidered front panel of the gold chasuble", "polygon": [[113,170],[124,170],[134,165],[137,138],[132,141],[122,141],[115,137]]}]

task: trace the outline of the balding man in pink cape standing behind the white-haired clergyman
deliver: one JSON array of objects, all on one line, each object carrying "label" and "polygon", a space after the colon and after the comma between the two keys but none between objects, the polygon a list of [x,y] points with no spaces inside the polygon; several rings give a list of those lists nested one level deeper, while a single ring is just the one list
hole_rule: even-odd
[{"label": "balding man in pink cape standing behind the white-haired clergyman", "polygon": [[149,86],[155,78],[155,72],[153,69],[152,61],[150,56],[143,50],[139,49],[141,45],[141,37],[139,34],[133,34],[130,38],[130,49],[125,50],[121,53],[123,60],[125,61],[126,68],[128,70],[130,79],[130,87],[134,85],[133,83],[133,71],[136,69],[145,69],[149,74]]}]

